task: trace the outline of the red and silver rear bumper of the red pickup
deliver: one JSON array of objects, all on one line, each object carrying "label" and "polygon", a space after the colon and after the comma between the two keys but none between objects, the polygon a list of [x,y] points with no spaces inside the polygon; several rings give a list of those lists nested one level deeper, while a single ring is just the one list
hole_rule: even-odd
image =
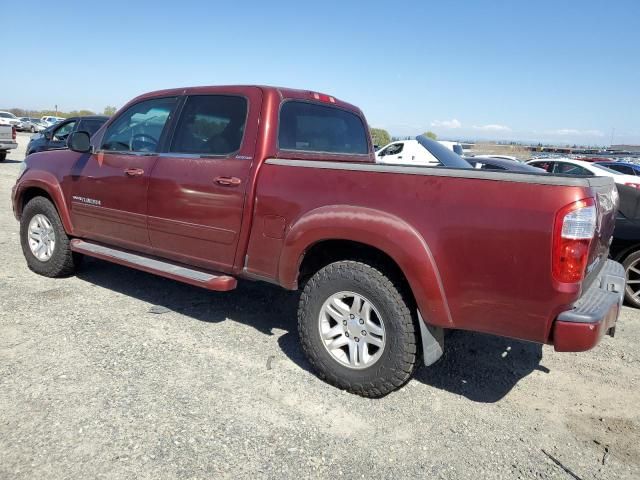
[{"label": "red and silver rear bumper of the red pickup", "polygon": [[624,299],[625,273],[618,262],[607,260],[598,278],[553,325],[553,346],[558,352],[583,352],[595,347],[604,334],[613,336]]}]

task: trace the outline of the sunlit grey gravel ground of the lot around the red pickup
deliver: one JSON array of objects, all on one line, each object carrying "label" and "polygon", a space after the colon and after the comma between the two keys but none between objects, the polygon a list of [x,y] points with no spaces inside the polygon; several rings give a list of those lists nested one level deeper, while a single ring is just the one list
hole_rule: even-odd
[{"label": "sunlit grey gravel ground of the lot around the red pickup", "polygon": [[582,354],[455,332],[367,400],[309,371],[295,294],[94,260],[31,273],[9,200],[22,157],[0,164],[0,478],[640,478],[637,310]]}]

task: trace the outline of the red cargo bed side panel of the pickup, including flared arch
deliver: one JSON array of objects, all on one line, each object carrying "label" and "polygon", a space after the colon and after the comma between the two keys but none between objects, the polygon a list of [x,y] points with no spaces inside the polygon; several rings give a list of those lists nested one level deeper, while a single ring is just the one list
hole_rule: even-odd
[{"label": "red cargo bed side panel of the pickup, including flared arch", "polygon": [[[555,214],[589,196],[587,190],[267,163],[247,268],[292,288],[313,243],[374,242],[404,271],[427,323],[547,342],[553,319],[579,295],[552,281]],[[325,213],[322,228],[316,220],[314,232],[305,233],[305,222],[318,212]],[[357,233],[345,233],[339,219],[345,215]],[[280,234],[269,229],[274,221]]]}]

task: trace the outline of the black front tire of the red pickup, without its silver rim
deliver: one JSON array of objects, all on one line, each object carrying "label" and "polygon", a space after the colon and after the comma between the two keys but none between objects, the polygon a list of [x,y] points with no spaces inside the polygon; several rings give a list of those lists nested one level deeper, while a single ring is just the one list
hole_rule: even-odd
[{"label": "black front tire of the red pickup, without its silver rim", "polygon": [[[44,215],[49,220],[55,235],[53,253],[46,261],[39,260],[29,247],[29,223],[38,214]],[[20,244],[29,268],[45,277],[71,275],[79,261],[79,257],[71,251],[70,238],[62,226],[56,207],[44,197],[35,197],[24,207],[20,219]]]}]

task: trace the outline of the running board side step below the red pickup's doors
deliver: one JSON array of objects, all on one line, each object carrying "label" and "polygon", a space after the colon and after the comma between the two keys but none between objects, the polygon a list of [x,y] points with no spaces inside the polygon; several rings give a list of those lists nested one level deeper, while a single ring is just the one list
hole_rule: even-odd
[{"label": "running board side step below the red pickup's doors", "polygon": [[118,250],[97,243],[86,242],[75,238],[71,240],[71,250],[90,257],[107,260],[112,263],[135,268],[144,272],[171,278],[179,282],[188,283],[197,287],[228,292],[236,288],[238,282],[234,277],[216,272],[194,270],[189,267],[139,255],[126,250]]}]

